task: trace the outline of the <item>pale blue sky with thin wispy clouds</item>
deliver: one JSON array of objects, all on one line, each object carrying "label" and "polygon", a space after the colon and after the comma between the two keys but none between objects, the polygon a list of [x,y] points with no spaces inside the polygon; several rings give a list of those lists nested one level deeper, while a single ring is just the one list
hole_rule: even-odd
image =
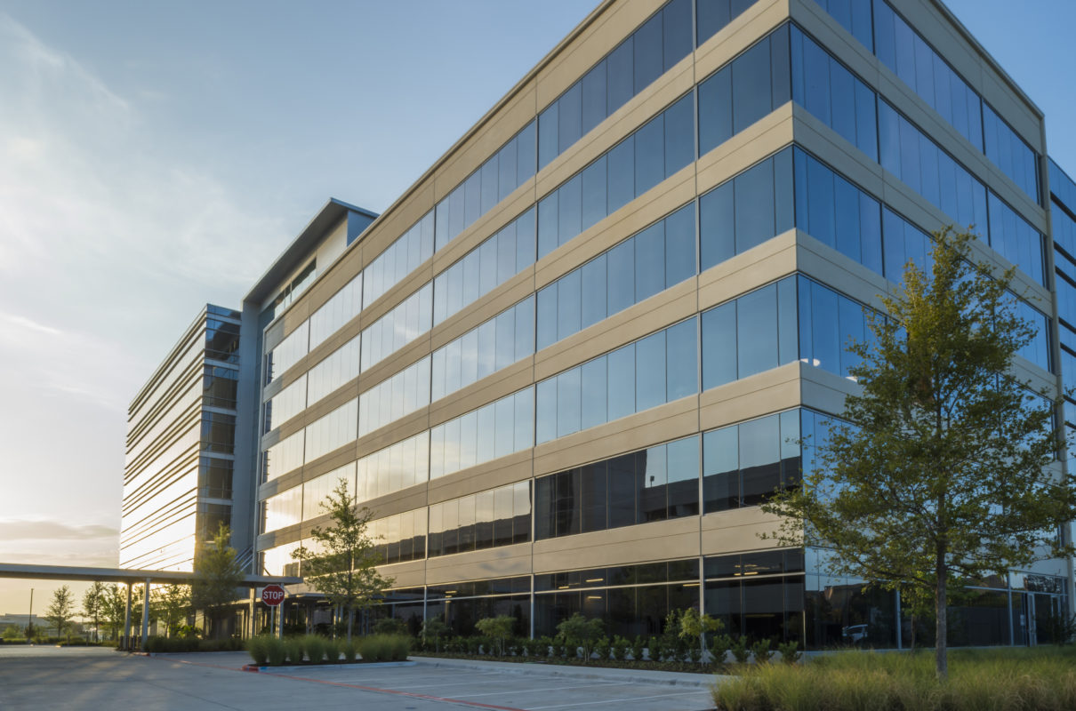
[{"label": "pale blue sky with thin wispy clouds", "polygon": [[[127,404],[200,308],[327,198],[388,207],[595,4],[0,0],[0,561],[116,565]],[[948,4],[1076,175],[1076,2]]]}]

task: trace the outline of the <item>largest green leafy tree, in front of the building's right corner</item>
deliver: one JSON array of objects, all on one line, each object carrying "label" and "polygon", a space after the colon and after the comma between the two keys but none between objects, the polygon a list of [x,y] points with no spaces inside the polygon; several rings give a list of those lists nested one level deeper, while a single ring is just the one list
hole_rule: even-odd
[{"label": "largest green leafy tree, in front of the building's right corner", "polygon": [[824,545],[831,572],[930,595],[944,679],[950,589],[1071,555],[1056,531],[1076,516],[1076,490],[1053,466],[1053,407],[1011,371],[1034,336],[1007,290],[1014,271],[973,265],[971,234],[935,237],[930,272],[909,262],[882,297],[889,316],[869,316],[873,343],[850,346],[862,390],[844,422],[803,486],[763,510],[787,517],[779,540]]}]

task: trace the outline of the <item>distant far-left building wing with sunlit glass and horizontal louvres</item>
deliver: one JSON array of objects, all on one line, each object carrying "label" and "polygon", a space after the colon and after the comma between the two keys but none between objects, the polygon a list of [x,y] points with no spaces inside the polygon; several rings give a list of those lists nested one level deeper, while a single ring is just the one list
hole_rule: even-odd
[{"label": "distant far-left building wing with sunlit glass and horizontal louvres", "polygon": [[119,565],[192,570],[220,524],[253,560],[251,468],[236,459],[240,313],[208,304],[128,409]]}]

